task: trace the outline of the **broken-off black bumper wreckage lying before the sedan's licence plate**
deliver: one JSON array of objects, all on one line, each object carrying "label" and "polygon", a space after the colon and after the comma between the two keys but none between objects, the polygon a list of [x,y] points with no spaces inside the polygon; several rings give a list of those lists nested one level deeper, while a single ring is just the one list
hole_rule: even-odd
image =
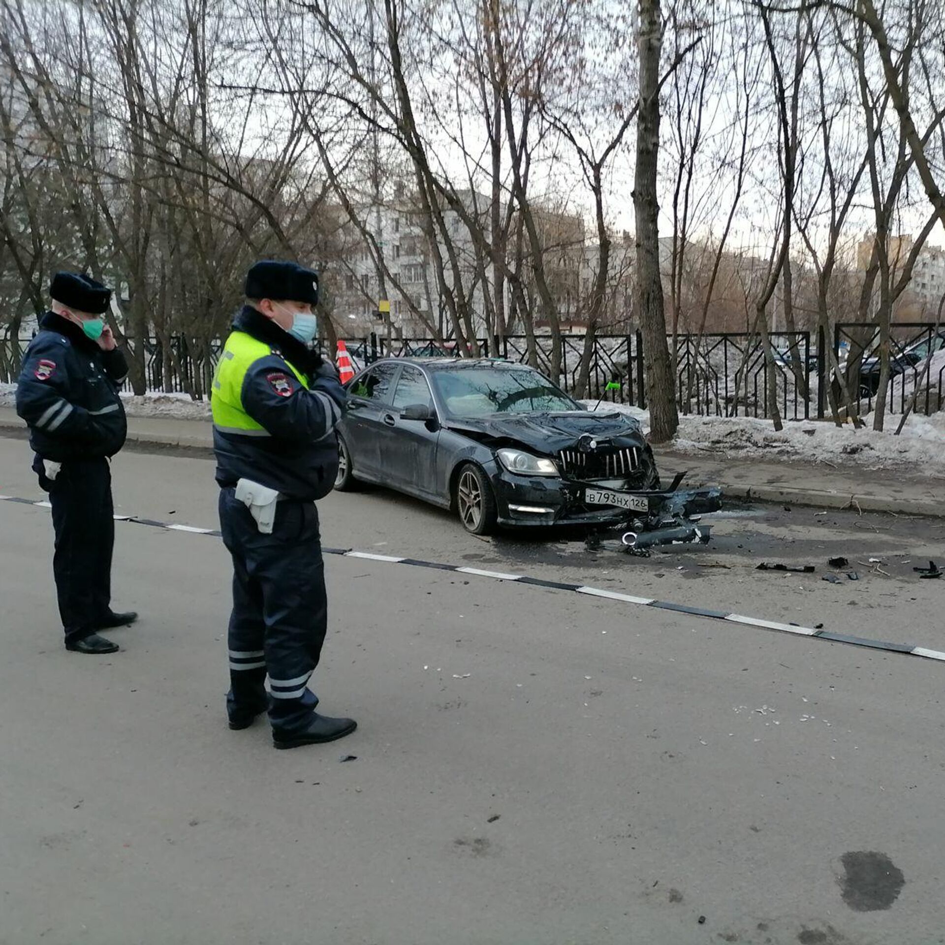
[{"label": "broken-off black bumper wreckage lying before the sedan's licence plate", "polygon": [[[626,522],[597,531],[588,538],[588,549],[608,548],[645,558],[650,548],[660,545],[708,544],[712,526],[702,524],[701,517],[722,507],[722,490],[717,486],[680,489],[685,475],[680,472],[666,490],[620,490],[645,500],[648,510],[628,512]],[[619,541],[613,541],[618,538]]]}]

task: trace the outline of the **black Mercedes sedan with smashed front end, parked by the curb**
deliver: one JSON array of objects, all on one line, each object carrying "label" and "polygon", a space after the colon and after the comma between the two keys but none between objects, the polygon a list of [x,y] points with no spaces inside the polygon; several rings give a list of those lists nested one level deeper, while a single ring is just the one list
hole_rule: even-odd
[{"label": "black Mercedes sedan with smashed front end, parked by the curb", "polygon": [[646,515],[660,476],[640,424],[592,412],[523,365],[379,361],[348,385],[335,488],[374,483],[497,524],[618,525]]}]

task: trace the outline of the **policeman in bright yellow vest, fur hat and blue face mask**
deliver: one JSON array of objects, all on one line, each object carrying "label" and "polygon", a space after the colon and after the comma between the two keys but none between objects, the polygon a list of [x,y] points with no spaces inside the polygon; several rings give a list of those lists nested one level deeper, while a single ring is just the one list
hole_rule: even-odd
[{"label": "policeman in bright yellow vest, fur hat and blue face mask", "polygon": [[233,561],[227,713],[231,729],[246,729],[267,710],[274,745],[293,748],[356,728],[319,715],[308,688],[328,626],[315,503],[335,483],[345,392],[308,347],[318,273],[257,263],[246,298],[211,401],[220,527]]}]

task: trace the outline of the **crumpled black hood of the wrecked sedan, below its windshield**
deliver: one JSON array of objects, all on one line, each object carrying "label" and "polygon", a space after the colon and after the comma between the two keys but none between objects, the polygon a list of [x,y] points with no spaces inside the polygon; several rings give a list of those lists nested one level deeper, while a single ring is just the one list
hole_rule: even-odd
[{"label": "crumpled black hood of the wrecked sedan, below its windshield", "polygon": [[595,439],[619,440],[620,445],[643,446],[640,424],[627,414],[572,410],[564,413],[491,414],[474,420],[449,421],[458,433],[486,434],[514,440],[540,453],[557,453],[573,447],[578,438],[590,434]]}]

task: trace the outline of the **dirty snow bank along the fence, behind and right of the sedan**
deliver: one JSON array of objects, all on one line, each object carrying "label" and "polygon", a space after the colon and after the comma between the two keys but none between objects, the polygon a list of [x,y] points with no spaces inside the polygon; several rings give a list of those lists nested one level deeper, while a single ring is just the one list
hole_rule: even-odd
[{"label": "dirty snow bank along the fence, behind and right of the sedan", "polygon": [[[583,403],[593,410],[596,402]],[[639,407],[601,404],[598,409],[616,409],[640,421],[644,430],[649,427],[648,412]],[[680,453],[780,458],[836,467],[945,469],[945,412],[911,416],[896,437],[900,419],[899,415],[887,417],[883,433],[854,430],[851,425],[837,427],[831,421],[785,421],[782,432],[776,433],[771,421],[752,417],[680,417],[673,448]],[[869,423],[871,418],[866,420]]]}]

